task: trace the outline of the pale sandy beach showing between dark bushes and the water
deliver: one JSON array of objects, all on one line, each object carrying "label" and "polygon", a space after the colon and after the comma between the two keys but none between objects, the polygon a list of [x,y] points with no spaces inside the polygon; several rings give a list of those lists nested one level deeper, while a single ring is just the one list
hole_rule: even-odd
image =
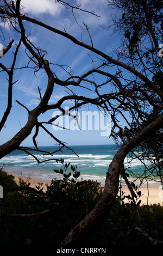
[{"label": "pale sandy beach showing between dark bushes and the water", "polygon": [[[15,181],[18,183],[18,178],[20,176],[17,175],[13,175],[15,177]],[[34,187],[36,188],[36,186],[38,186],[38,182],[42,183],[43,186],[43,191],[46,191],[46,184],[50,185],[51,181],[42,181],[42,180],[38,180],[38,179],[34,179],[34,178],[26,178],[26,177],[21,177],[24,181],[29,181],[30,182],[30,187]],[[141,196],[141,205],[142,204],[158,204],[160,203],[160,205],[163,205],[163,192],[162,192],[162,188],[161,188],[161,184],[158,182],[155,183],[148,183],[148,189],[147,189],[147,184],[142,184],[140,187],[142,196]],[[126,196],[129,193],[129,189],[128,187],[123,187],[122,191],[125,192]],[[124,200],[124,202],[128,202],[127,199]]]}]

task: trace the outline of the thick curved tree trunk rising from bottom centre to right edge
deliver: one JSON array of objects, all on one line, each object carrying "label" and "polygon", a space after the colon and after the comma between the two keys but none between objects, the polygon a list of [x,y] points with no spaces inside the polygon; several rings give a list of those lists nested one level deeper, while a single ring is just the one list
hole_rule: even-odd
[{"label": "thick curved tree trunk rising from bottom centre to right edge", "polygon": [[131,138],[127,143],[123,144],[120,150],[117,151],[112,160],[108,172],[106,173],[106,181],[104,192],[95,206],[95,208],[82,220],[70,233],[65,240],[61,242],[62,246],[73,245],[78,241],[82,241],[89,234],[89,230],[96,227],[97,223],[103,221],[103,217],[109,213],[118,193],[119,174],[124,158],[131,149],[146,139],[152,132],[160,129],[163,126],[163,115],[154,120],[150,125],[145,127],[141,132]]}]

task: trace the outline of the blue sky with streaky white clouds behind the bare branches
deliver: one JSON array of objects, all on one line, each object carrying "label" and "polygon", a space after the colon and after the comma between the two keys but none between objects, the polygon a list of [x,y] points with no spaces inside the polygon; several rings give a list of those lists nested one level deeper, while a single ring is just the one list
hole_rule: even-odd
[{"label": "blue sky with streaky white clouds behind the bare branches", "polygon": [[[69,4],[77,5],[79,2],[77,0],[68,1]],[[109,29],[103,29],[102,26],[108,26],[111,22],[111,14],[109,11],[108,5],[106,5],[105,0],[81,0],[81,8],[89,11],[95,10],[95,13],[99,16],[91,15],[89,13],[85,13],[83,11],[74,10],[72,13],[72,9],[70,7],[65,7],[60,3],[56,3],[54,0],[21,0],[21,4],[23,5],[23,11],[28,13],[28,16],[33,17],[34,19],[38,19],[42,22],[46,22],[48,25],[53,26],[61,31],[66,31],[67,33],[73,35],[78,40],[83,40],[83,42],[87,44],[91,44],[89,34],[87,33],[84,23],[89,27],[89,31],[91,34],[91,38],[93,41],[93,46],[98,48],[98,50],[104,51],[106,54],[110,56],[114,55],[113,49],[118,47],[120,44],[118,35],[112,35],[112,31]],[[30,41],[36,45],[37,47],[41,47],[43,50],[47,52],[46,57],[49,62],[54,63],[52,70],[55,74],[61,79],[64,80],[68,77],[67,72],[64,69],[59,68],[59,65],[64,64],[67,66],[71,66],[71,69],[68,68],[67,71],[73,70],[74,74],[80,76],[87,72],[89,69],[93,68],[92,60],[95,60],[95,65],[98,64],[97,56],[88,50],[83,49],[80,46],[73,44],[70,40],[64,38],[61,35],[54,34],[50,31],[46,31],[45,29],[31,24],[28,21],[24,21],[24,27],[26,27],[26,34],[28,34],[28,38]],[[6,23],[5,26],[3,23],[0,23],[1,28],[3,29],[3,35],[1,33],[0,44],[4,47],[8,45],[11,39],[14,39],[14,44],[12,45],[12,51],[5,54],[3,58],[1,58],[1,62],[10,66],[11,60],[13,57],[13,52],[15,51],[16,44],[18,42],[18,35],[16,32],[11,30]],[[3,40],[4,39],[4,40]],[[18,53],[16,59],[16,67],[25,66],[28,63],[28,58],[26,55],[26,49],[24,46],[20,47],[20,51]],[[96,81],[101,82],[101,77],[96,76]],[[5,108],[7,107],[7,94],[8,94],[8,81],[7,75],[4,72],[0,73],[0,115],[2,116]],[[5,123],[5,127],[2,129],[0,133],[0,143],[3,144],[11,139],[16,132],[18,132],[21,127],[23,127],[28,120],[28,113],[26,109],[22,106],[18,105],[16,100],[23,103],[23,105],[27,106],[30,110],[36,107],[39,103],[39,92],[37,90],[37,86],[41,88],[41,93],[45,92],[46,84],[47,84],[47,76],[45,72],[42,70],[36,72],[32,69],[21,69],[15,70],[14,72],[14,81],[18,80],[13,86],[12,92],[12,108],[10,115],[8,117],[7,122]],[[70,87],[75,93],[84,96],[95,96],[95,90],[89,90],[83,88],[74,88]],[[105,88],[106,90],[107,88]],[[65,88],[61,88],[54,85],[54,92],[51,97],[49,103],[56,103],[60,97],[67,95]],[[70,108],[72,106],[72,102],[68,101],[63,105],[65,108]],[[96,114],[97,108],[92,105],[87,105],[81,109],[81,111],[95,111]],[[82,115],[83,112],[79,114]],[[40,115],[39,121],[48,121],[54,116],[54,110],[46,112],[43,115]],[[89,114],[91,114],[89,112]],[[90,117],[90,115],[89,115]],[[100,118],[100,114],[98,117]],[[64,119],[62,119],[64,120]],[[58,125],[61,124],[62,120]],[[84,122],[84,119],[82,119]],[[84,126],[84,123],[80,123],[81,126]],[[96,119],[97,120],[97,119]],[[65,121],[65,120],[64,120]],[[60,141],[67,143],[68,145],[93,145],[93,144],[112,144],[113,141],[107,136],[102,136],[102,132],[106,129],[106,119],[103,124],[102,129],[96,130],[95,127],[92,127],[92,130],[77,130],[74,127],[74,123],[72,120],[69,120],[69,124],[71,123],[70,130],[54,130],[54,127],[49,126],[49,131],[54,134],[55,137],[60,139]],[[112,125],[112,124],[110,124]],[[70,127],[69,127],[70,128]],[[32,134],[22,143],[22,145],[32,146]],[[36,139],[38,145],[54,145],[55,142],[51,137],[46,135],[43,131],[40,130],[40,134]]]}]

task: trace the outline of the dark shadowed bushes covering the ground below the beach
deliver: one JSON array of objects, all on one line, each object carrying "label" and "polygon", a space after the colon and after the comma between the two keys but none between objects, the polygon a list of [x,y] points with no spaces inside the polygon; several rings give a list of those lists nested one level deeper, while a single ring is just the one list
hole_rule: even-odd
[{"label": "dark shadowed bushes covering the ground below the beach", "polygon": [[[73,168],[72,168],[73,169]],[[66,173],[64,173],[66,174]],[[102,196],[97,181],[52,180],[46,192],[42,184],[30,188],[30,179],[20,179],[0,171],[4,197],[0,205],[0,245],[53,246],[59,248],[65,234],[83,220]],[[73,174],[72,174],[73,175]],[[67,178],[67,176],[66,176]],[[134,186],[136,192],[136,187]],[[140,191],[139,191],[140,192]],[[89,232],[89,238],[79,239],[74,247],[151,246],[162,245],[163,215],[160,204],[141,205],[124,195],[116,202],[102,222]],[[136,202],[136,203],[135,203]]]}]

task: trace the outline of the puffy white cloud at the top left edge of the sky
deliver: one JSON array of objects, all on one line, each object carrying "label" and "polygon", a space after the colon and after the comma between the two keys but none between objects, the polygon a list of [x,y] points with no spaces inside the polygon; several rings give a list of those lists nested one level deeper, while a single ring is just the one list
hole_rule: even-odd
[{"label": "puffy white cloud at the top left edge of the sky", "polygon": [[21,0],[24,11],[32,14],[59,15],[62,5],[55,0]]}]

